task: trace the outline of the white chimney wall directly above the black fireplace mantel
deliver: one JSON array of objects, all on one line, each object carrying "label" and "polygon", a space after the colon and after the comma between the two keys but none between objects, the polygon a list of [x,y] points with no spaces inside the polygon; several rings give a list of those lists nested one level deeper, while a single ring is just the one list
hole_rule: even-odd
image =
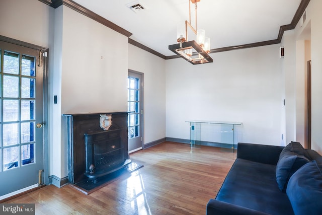
[{"label": "white chimney wall directly above the black fireplace mantel", "polygon": [[61,112],[127,111],[128,38],[63,7]]}]

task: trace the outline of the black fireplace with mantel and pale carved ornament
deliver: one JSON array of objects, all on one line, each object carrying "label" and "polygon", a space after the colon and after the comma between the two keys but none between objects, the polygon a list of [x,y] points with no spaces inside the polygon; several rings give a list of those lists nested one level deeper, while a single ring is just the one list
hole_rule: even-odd
[{"label": "black fireplace with mantel and pale carved ornament", "polygon": [[68,181],[76,184],[113,173],[131,163],[127,112],[63,114]]}]

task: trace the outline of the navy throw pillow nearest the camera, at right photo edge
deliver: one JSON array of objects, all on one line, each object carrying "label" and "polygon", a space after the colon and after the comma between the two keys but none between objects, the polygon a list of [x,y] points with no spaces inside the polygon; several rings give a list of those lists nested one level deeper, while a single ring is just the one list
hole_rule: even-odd
[{"label": "navy throw pillow nearest the camera, at right photo edge", "polygon": [[302,166],[290,178],[286,194],[295,215],[321,214],[322,211],[322,172],[316,161]]}]

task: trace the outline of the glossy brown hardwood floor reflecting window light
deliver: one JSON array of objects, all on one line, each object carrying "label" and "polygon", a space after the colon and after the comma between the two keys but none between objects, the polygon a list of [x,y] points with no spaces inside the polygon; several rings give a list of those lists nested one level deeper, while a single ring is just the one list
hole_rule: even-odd
[{"label": "glossy brown hardwood floor reflecting window light", "polygon": [[144,167],[89,195],[49,185],[5,203],[35,203],[36,214],[205,214],[236,154],[163,142],[130,158]]}]

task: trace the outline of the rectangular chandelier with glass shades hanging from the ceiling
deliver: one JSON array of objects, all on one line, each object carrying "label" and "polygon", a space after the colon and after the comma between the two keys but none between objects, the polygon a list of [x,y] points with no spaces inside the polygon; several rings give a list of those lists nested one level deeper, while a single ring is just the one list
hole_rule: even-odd
[{"label": "rectangular chandelier with glass shades hanging from the ceiling", "polygon": [[[178,28],[177,29],[177,44],[169,45],[169,49],[175,54],[184,58],[192,64],[210,63],[212,58],[208,55],[210,52],[210,38],[205,38],[205,30],[197,30],[197,3],[201,0],[189,0],[189,22],[185,22],[185,34]],[[195,4],[195,28],[191,25],[191,3]],[[195,33],[196,41],[188,41],[188,27]]]}]

